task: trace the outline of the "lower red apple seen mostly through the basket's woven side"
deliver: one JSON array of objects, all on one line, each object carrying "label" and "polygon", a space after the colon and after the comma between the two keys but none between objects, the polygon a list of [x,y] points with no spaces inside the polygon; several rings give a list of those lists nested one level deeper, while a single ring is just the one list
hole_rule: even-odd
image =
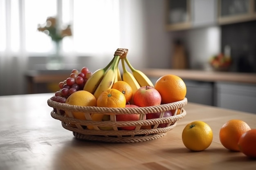
[{"label": "lower red apple seen mostly through the basket's woven side", "polygon": [[[126,108],[135,108],[139,107],[133,104],[126,104]],[[139,120],[139,114],[131,114],[131,115],[116,115],[117,121],[131,121],[131,120]],[[145,118],[146,119],[146,116]],[[136,126],[125,126],[125,127],[120,127],[121,130],[135,130]]]}]

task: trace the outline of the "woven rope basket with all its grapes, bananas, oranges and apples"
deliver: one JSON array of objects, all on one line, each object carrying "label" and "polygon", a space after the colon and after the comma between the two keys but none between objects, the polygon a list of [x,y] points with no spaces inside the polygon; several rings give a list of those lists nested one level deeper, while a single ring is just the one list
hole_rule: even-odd
[{"label": "woven rope basket with all its grapes, bananas, oranges and apples", "polygon": [[[163,75],[153,84],[117,49],[105,68],[74,69],[47,100],[51,116],[81,140],[133,143],[158,139],[184,118],[186,84]],[[121,68],[119,70],[118,64]]]}]

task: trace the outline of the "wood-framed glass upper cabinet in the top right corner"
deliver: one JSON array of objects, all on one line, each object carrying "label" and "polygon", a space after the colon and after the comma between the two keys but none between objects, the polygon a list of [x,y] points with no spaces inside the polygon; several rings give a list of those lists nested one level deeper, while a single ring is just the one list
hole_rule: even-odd
[{"label": "wood-framed glass upper cabinet in the top right corner", "polygon": [[256,20],[256,0],[219,0],[218,23],[231,24]]}]

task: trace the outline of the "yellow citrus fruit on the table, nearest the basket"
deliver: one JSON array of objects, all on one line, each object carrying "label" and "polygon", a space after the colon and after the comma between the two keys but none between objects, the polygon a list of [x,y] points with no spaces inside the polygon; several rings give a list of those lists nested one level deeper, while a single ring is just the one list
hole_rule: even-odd
[{"label": "yellow citrus fruit on the table, nearest the basket", "polygon": [[202,151],[211,145],[213,132],[203,121],[187,124],[182,132],[182,142],[189,150]]}]

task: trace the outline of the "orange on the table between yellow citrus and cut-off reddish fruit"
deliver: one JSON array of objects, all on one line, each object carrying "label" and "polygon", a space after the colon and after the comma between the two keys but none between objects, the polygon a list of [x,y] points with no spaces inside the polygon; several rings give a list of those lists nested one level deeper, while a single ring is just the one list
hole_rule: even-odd
[{"label": "orange on the table between yellow citrus and cut-off reddish fruit", "polygon": [[238,141],[246,131],[251,130],[249,125],[242,120],[232,119],[220,128],[220,143],[227,149],[239,151]]}]

